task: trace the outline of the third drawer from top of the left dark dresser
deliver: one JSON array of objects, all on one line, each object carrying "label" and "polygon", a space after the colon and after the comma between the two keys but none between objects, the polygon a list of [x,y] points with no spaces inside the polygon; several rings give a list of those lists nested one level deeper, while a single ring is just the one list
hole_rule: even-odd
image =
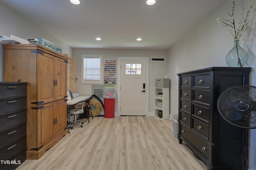
[{"label": "third drawer from top of the left dark dresser", "polygon": [[18,112],[11,112],[6,115],[0,115],[0,130],[24,123],[27,121],[27,110],[24,109]]}]

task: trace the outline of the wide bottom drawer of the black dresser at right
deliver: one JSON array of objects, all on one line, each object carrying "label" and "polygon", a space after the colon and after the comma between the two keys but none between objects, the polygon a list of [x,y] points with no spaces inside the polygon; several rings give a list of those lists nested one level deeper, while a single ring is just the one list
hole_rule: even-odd
[{"label": "wide bottom drawer of the black dresser at right", "polygon": [[210,146],[199,136],[196,136],[191,129],[185,125],[180,124],[181,134],[186,140],[188,140],[206,159],[209,159]]}]

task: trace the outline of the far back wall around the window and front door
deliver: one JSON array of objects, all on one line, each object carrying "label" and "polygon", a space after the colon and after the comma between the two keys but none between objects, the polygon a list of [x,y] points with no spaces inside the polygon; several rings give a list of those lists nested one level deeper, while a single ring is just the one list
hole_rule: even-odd
[{"label": "far back wall around the window and front door", "polygon": [[[75,58],[75,76],[79,77],[75,88],[79,95],[92,95],[91,84],[81,84],[81,54],[103,54],[103,61],[118,57],[148,57],[149,58],[149,115],[154,115],[154,87],[156,78],[164,78],[168,72],[167,50],[154,49],[73,49],[72,56]],[[165,61],[152,61],[152,58],[164,58]]]}]

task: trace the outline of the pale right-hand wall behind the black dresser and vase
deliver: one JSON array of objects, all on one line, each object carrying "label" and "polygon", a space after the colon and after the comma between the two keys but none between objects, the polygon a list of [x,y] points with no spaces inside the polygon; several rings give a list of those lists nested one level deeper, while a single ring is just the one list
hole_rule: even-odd
[{"label": "pale right-hand wall behind the black dresser and vase", "polygon": [[[235,20],[242,23],[246,10],[253,0],[236,0]],[[229,19],[232,3],[228,1],[193,30],[184,35],[182,40],[168,49],[168,72],[172,71],[170,112],[178,114],[178,76],[176,73],[202,69],[206,67],[228,67],[226,54],[234,46],[234,39],[229,28],[222,26],[216,18]],[[250,84],[256,86],[256,6],[249,16],[249,27],[240,38],[240,46],[249,54],[248,65],[252,67]],[[256,130],[250,130],[250,169],[256,169]],[[234,148],[235,149],[235,148]]]}]

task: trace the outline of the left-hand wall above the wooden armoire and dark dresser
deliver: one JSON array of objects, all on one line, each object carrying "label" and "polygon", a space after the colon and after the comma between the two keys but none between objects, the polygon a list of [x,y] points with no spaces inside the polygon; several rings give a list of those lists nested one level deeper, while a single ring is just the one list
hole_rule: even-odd
[{"label": "left-hand wall above the wooden armoire and dark dresser", "polygon": [[[72,55],[72,48],[30,22],[0,2],[0,35],[20,38],[45,38],[62,48],[63,54]],[[60,28],[61,29],[61,28]],[[4,81],[4,50],[0,42],[0,81]]]}]

